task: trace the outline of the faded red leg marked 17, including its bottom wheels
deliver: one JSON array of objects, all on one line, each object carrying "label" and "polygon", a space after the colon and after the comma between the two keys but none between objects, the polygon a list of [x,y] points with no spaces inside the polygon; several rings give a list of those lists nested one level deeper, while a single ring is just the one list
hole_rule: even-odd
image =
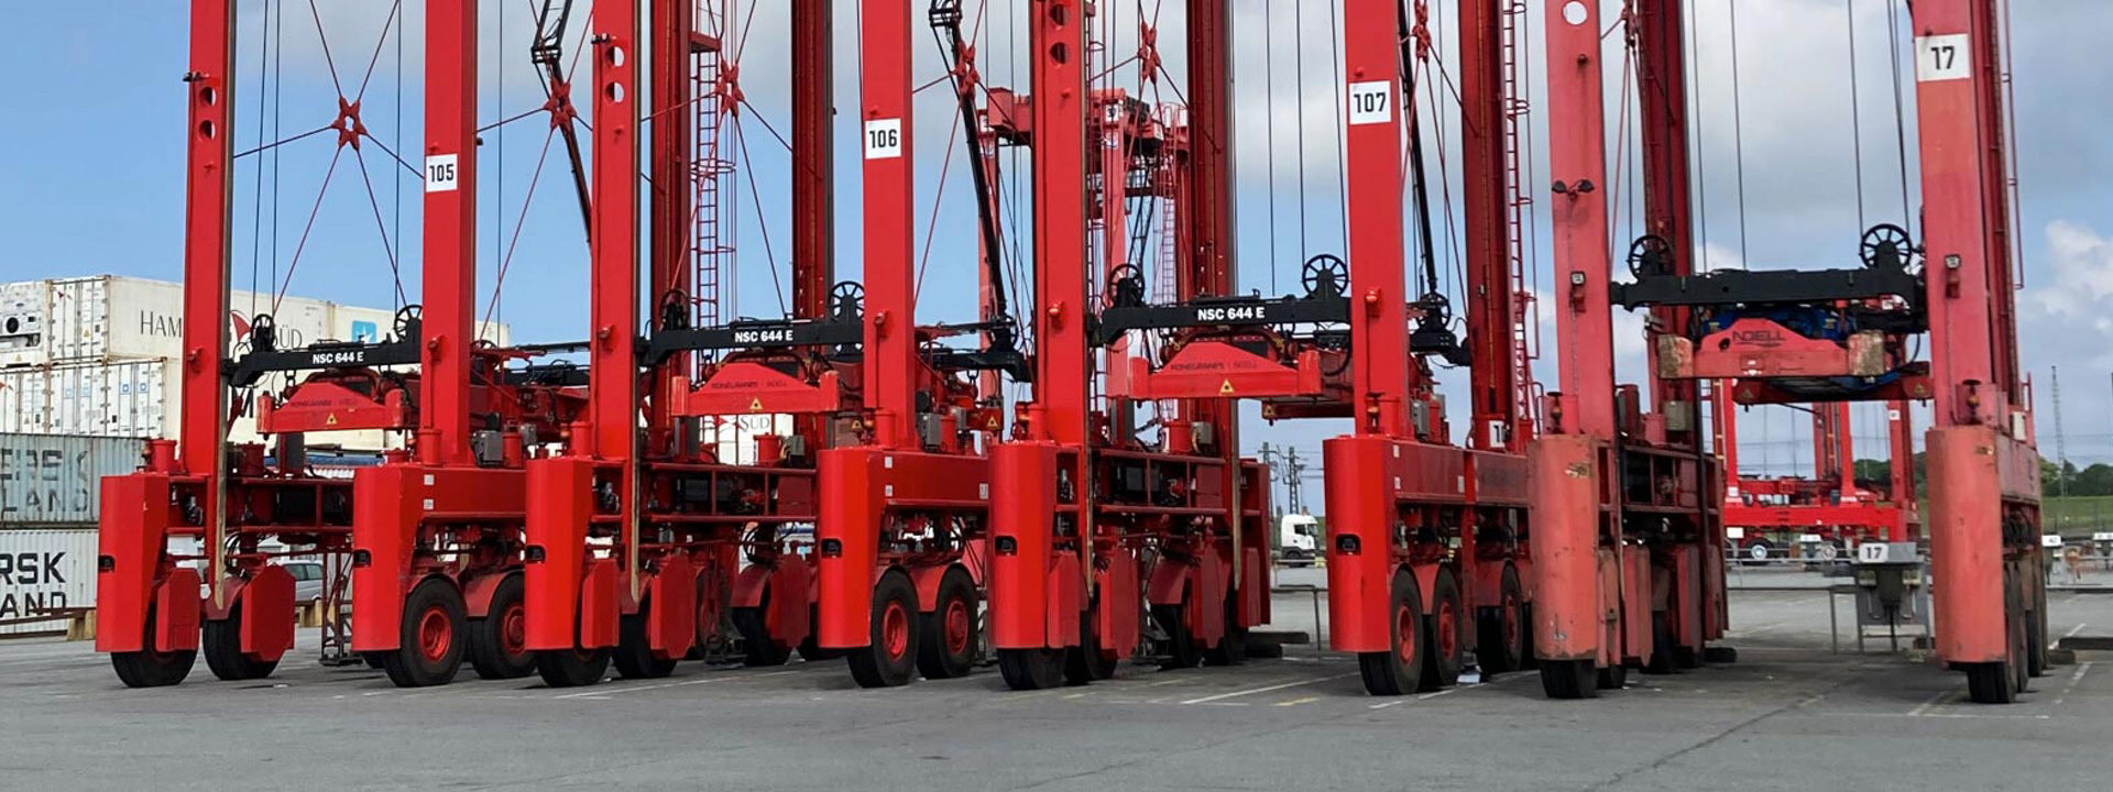
[{"label": "faded red leg marked 17, including its bottom wheels", "polygon": [[[1993,0],[1914,4],[1938,657],[2007,703],[2045,663],[2039,454],[2016,361],[2003,32]],[[2001,566],[1999,566],[2001,564]]]}]

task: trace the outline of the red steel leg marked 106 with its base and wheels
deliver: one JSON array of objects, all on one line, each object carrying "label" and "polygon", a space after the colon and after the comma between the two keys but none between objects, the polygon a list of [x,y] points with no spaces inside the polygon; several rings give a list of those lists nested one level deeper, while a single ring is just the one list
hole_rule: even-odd
[{"label": "red steel leg marked 106 with its base and wheels", "polygon": [[[989,460],[959,437],[995,425],[964,425],[949,403],[951,374],[919,353],[913,19],[909,0],[860,0],[866,437],[816,463],[816,640],[845,650],[864,686],[906,684],[913,672],[968,674],[991,494]],[[970,600],[959,593],[964,577]]]}]

